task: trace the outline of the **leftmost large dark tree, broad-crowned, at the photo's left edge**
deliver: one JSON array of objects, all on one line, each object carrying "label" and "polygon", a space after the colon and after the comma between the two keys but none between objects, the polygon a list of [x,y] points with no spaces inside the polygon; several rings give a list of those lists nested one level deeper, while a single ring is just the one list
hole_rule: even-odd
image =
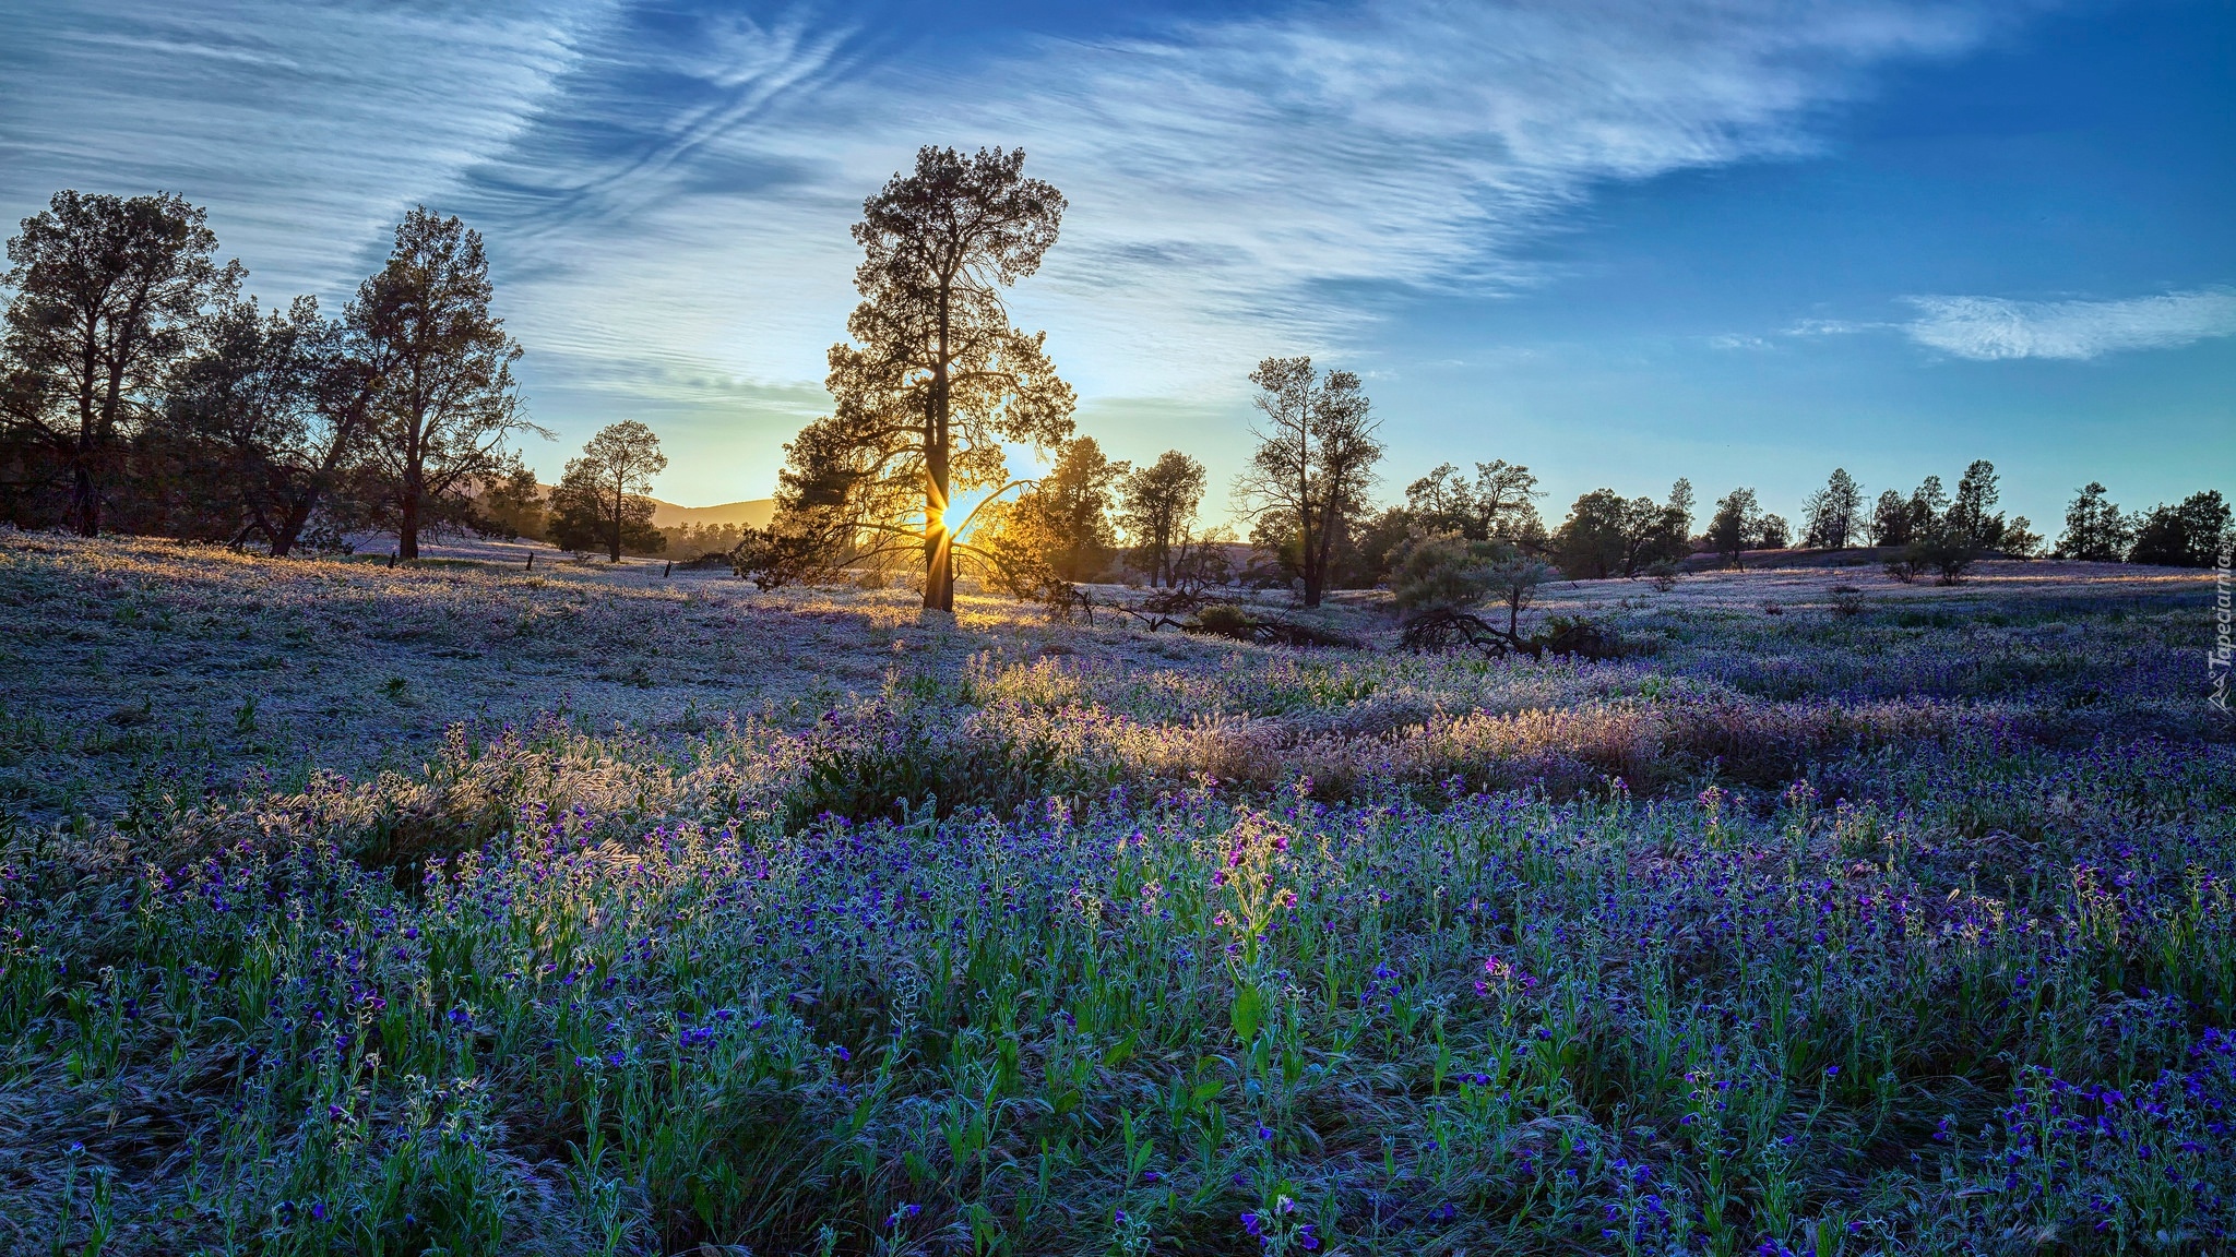
[{"label": "leftmost large dark tree, broad-crowned, at the photo's left edge", "polygon": [[63,190],[9,239],[7,405],[0,420],[69,476],[69,523],[101,532],[123,441],[161,403],[212,302],[241,266],[215,262],[208,212],[172,192]]}]

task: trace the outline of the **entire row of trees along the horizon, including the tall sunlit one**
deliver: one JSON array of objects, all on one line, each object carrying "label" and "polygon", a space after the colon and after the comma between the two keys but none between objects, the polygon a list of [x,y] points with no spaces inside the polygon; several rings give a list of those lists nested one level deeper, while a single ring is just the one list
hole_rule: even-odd
[{"label": "entire row of trees along the horizon, including the tall sunlit one", "polygon": [[[1925,476],[1876,501],[1836,467],[1800,528],[1746,485],[1699,521],[1686,479],[1659,499],[1590,490],[1547,526],[1538,476],[1503,459],[1438,465],[1375,508],[1373,403],[1357,374],[1310,358],[1250,374],[1254,450],[1232,485],[1243,541],[1203,523],[1210,485],[1190,454],[1134,467],[1080,434],[1046,335],[1011,324],[1004,291],[1038,271],[1062,210],[1022,150],[923,148],[854,224],[861,304],[830,349],[834,407],[785,445],[774,521],[662,530],[648,492],[666,456],[646,425],[604,427],[550,488],[508,445],[548,434],[521,405],[521,347],[490,309],[483,242],[456,217],[405,215],[389,259],[329,318],[313,297],[284,311],[244,297],[246,271],[217,262],[206,212],[181,197],[65,190],[7,248],[0,512],[273,555],[394,530],[407,559],[427,530],[476,528],[608,559],[727,555],[762,586],[910,564],[928,608],[953,608],[961,566],[1022,597],[1131,573],[1286,586],[1308,606],[1402,575],[1422,606],[1496,593],[1518,613],[1552,573],[1661,579],[1702,557],[1869,544],[1898,579],[1957,582],[1981,557],[2044,548],[1997,510],[1988,461],[1954,490]],[[1011,476],[1013,445],[1049,470]],[[2135,514],[2106,494],[2079,490],[2059,557],[2211,566],[2229,548],[2218,492]],[[977,505],[959,512],[957,497]]]}]

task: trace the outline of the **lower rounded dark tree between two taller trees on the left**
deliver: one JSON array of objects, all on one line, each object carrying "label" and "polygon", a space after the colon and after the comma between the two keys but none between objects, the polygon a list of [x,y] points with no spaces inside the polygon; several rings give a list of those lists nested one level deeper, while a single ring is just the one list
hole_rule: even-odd
[{"label": "lower rounded dark tree between two taller trees on the left", "polygon": [[311,517],[331,512],[360,452],[369,382],[315,297],[286,313],[230,302],[172,374],[157,436],[203,508],[226,514],[235,546],[262,537],[286,557]]}]

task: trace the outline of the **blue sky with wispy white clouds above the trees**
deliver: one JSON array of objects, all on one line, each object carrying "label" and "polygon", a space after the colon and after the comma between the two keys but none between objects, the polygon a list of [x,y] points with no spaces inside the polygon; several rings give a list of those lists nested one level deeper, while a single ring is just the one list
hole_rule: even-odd
[{"label": "blue sky with wispy white clouds above the trees", "polygon": [[1250,369],[1310,353],[1364,376],[1384,501],[1509,459],[1554,521],[1675,476],[1798,517],[1836,465],[1992,459],[2055,537],[2086,481],[2236,490],[2229,0],[0,9],[0,217],[181,192],[268,304],[338,309],[456,212],[530,465],[639,418],[691,505],[827,407],[847,226],[923,143],[1067,195],[1011,306],[1118,459],[1225,483]]}]

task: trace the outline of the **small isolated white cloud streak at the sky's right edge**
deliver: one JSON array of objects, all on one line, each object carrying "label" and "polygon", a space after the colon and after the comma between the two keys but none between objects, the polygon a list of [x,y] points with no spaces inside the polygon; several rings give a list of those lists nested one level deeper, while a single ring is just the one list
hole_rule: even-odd
[{"label": "small isolated white cloud streak at the sky's right edge", "polygon": [[2097,358],[2124,349],[2178,349],[2236,335],[2236,289],[2196,289],[2117,302],[2010,302],[1910,297],[1903,324],[1918,344],[1957,358]]}]

